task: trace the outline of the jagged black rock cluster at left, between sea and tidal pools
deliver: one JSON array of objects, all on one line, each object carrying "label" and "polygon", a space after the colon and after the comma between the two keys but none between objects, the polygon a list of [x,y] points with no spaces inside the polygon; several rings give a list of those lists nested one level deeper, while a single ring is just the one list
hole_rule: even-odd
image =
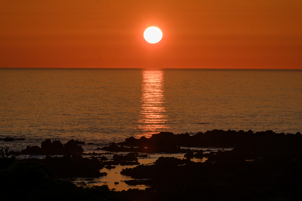
[{"label": "jagged black rock cluster at left, between sea and tidal pools", "polygon": [[21,154],[64,155],[82,153],[84,150],[82,146],[78,145],[79,143],[83,142],[69,140],[63,145],[59,140],[54,140],[51,143],[50,139],[48,139],[41,143],[41,148],[38,146],[26,146],[26,149],[22,150]]}]

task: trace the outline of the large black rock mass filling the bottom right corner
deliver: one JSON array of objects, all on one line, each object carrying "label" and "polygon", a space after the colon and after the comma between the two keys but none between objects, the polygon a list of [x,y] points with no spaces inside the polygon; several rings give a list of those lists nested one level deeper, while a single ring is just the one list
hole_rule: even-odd
[{"label": "large black rock mass filling the bottom right corner", "polygon": [[196,157],[208,157],[203,163],[180,165],[180,159],[160,157],[154,165],[126,168],[121,174],[137,179],[125,181],[129,185],[150,186],[144,191],[126,191],[143,201],[298,200],[302,189],[301,144],[300,133],[268,130],[254,133],[231,151],[198,151]]}]

